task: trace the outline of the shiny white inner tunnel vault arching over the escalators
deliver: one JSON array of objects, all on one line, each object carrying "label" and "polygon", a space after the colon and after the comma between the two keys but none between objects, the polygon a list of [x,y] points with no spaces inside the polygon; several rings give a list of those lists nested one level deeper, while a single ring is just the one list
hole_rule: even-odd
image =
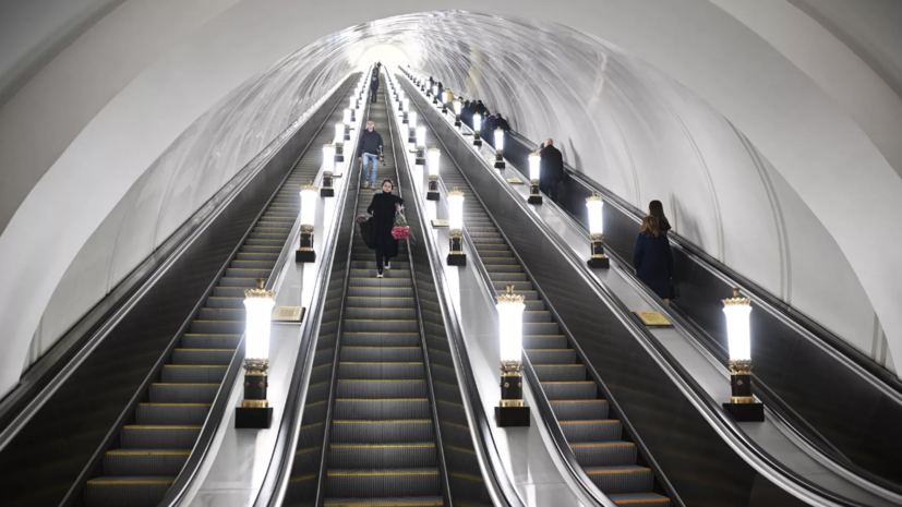
[{"label": "shiny white inner tunnel vault arching over the escalators", "polygon": [[[544,7],[536,9],[537,17],[555,17],[542,15]],[[326,11],[316,16],[326,19]],[[530,8],[522,12],[536,11]],[[313,17],[305,19],[311,26],[315,26]],[[572,25],[579,24],[573,16],[569,21]],[[63,234],[68,258],[60,256],[55,265],[56,275],[50,274],[44,281],[43,302],[40,298],[31,302],[39,306],[38,317],[48,309],[38,329],[38,348],[49,346],[262,147],[353,70],[369,49],[394,46],[407,55],[414,68],[442,79],[456,92],[479,96],[493,110],[506,113],[514,128],[530,138],[554,136],[572,164],[633,204],[645,207],[648,200],[661,198],[681,234],[871,353],[875,337],[881,330],[869,297],[880,291],[869,292],[863,287],[861,258],[853,255],[850,264],[843,255],[843,251],[854,253],[855,249],[849,249],[847,231],[837,227],[837,217],[825,214],[817,200],[799,192],[795,181],[798,177],[786,170],[787,158],[793,157],[780,146],[770,146],[773,140],[761,137],[761,125],[756,122],[763,119],[745,118],[745,110],[732,111],[734,126],[724,118],[724,113],[731,112],[724,109],[730,108],[709,104],[699,96],[699,89],[691,90],[661,72],[659,68],[668,68],[666,62],[658,60],[652,67],[639,56],[605,43],[600,28],[584,27],[579,32],[561,23],[510,13],[404,14],[326,35],[252,75],[212,104],[168,147],[154,138],[156,145],[142,153],[141,158],[146,159],[157,149],[155,161],[149,168],[146,164],[131,168],[131,181],[124,176],[116,181],[113,186],[123,190],[112,191],[117,197],[115,206],[95,206],[91,210],[94,213],[83,213],[81,221],[95,224],[86,233],[82,229],[77,234]],[[623,40],[628,41],[628,37]],[[194,58],[204,55],[196,52]],[[686,65],[691,67],[691,62]],[[190,71],[185,73],[191,75]],[[679,74],[673,69],[671,73]],[[707,73],[714,75],[717,69],[708,69]],[[134,90],[127,89],[122,95],[128,92]],[[137,96],[146,98],[159,90],[137,92]],[[160,100],[165,101],[163,97]],[[758,98],[748,100],[754,102]],[[809,120],[833,121],[828,117]],[[94,121],[80,137],[96,137],[104,129],[109,133],[116,121],[105,125],[104,120]],[[158,121],[153,113],[145,120]],[[769,149],[756,148],[745,134],[755,136],[744,125],[758,134]],[[92,128],[97,132],[91,132]],[[855,146],[858,161],[871,172],[882,174],[877,181],[886,181],[886,169],[892,172],[892,168],[877,157],[879,153],[873,145],[862,143],[859,133],[844,129],[825,135],[857,135],[845,140],[846,147]],[[134,145],[135,140],[129,137],[140,138],[141,134],[129,132],[117,141]],[[73,143],[60,161],[84,164],[92,157],[125,161],[129,155],[116,149],[99,155],[85,153],[88,148]],[[65,160],[65,155],[73,155],[73,160]],[[769,161],[771,156],[775,161]],[[802,154],[793,156],[805,168],[814,164],[803,160]],[[822,160],[822,156],[815,158]],[[101,176],[109,174],[98,171],[92,174],[94,180],[70,182],[76,191],[91,194],[96,192],[96,178]],[[122,186],[124,183],[128,184]],[[882,189],[892,194],[900,188],[898,183]],[[867,185],[861,189],[864,194],[869,192],[865,190],[869,189]],[[50,218],[51,215],[44,216]],[[34,224],[40,219],[38,216],[24,220]],[[12,236],[9,232],[0,237],[0,258],[7,253],[3,241],[14,238],[17,230]],[[846,248],[834,241],[838,232]],[[48,241],[34,244],[46,246]],[[24,263],[22,255],[12,258]],[[825,273],[832,278],[825,277]],[[13,277],[9,281],[16,280]],[[19,309],[23,310],[21,304]],[[15,333],[10,341],[21,341],[23,337],[31,340],[36,311],[25,310],[17,313],[21,324],[13,326]],[[2,347],[11,352],[7,354],[13,358],[11,363],[15,363],[15,358],[24,359],[21,343],[4,342]],[[2,387],[5,390],[5,385]]]}]

